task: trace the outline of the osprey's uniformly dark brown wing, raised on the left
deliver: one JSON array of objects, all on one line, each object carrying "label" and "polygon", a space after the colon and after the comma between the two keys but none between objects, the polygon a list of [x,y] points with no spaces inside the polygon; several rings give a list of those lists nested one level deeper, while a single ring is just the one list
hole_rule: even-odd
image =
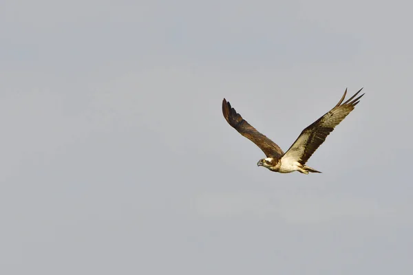
[{"label": "osprey's uniformly dark brown wing, raised on the left", "polygon": [[267,157],[279,158],[284,154],[277,144],[248,124],[248,122],[231,107],[231,104],[226,102],[225,98],[222,100],[222,113],[224,114],[225,120],[233,126],[235,130],[260,147]]}]

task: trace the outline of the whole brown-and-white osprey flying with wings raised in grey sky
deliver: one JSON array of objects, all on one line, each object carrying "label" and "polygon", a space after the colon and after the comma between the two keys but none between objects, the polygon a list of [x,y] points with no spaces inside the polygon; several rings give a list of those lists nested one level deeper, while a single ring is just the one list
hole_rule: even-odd
[{"label": "whole brown-and-white osprey flying with wings raised in grey sky", "polygon": [[342,103],[344,98],[346,98],[346,89],[337,105],[304,129],[286,153],[272,140],[248,124],[248,122],[231,107],[231,104],[229,104],[225,98],[222,100],[222,113],[224,114],[225,120],[233,126],[235,130],[248,138],[248,140],[254,142],[266,155],[266,158],[260,159],[257,166],[264,166],[273,172],[279,173],[291,173],[294,171],[299,171],[304,174],[308,174],[309,172],[321,173],[305,164],[317,148],[326,140],[327,135],[329,135],[335,126],[346,118],[354,109],[354,106],[359,103],[359,99],[364,96],[364,94],[358,98],[355,97],[362,89],[363,88],[357,91],[357,93],[346,102]]}]

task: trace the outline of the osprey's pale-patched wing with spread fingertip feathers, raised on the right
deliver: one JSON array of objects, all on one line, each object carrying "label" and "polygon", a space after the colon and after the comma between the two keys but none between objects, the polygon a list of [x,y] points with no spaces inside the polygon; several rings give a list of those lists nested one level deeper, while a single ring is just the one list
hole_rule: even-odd
[{"label": "osprey's pale-patched wing with spread fingertip feathers, raised on the right", "polygon": [[293,145],[291,145],[283,155],[282,159],[288,162],[296,161],[303,165],[306,164],[311,155],[313,155],[317,148],[319,148],[324,140],[326,140],[327,135],[329,135],[331,131],[334,130],[335,126],[346,118],[346,116],[354,109],[354,106],[359,103],[359,99],[364,96],[364,94],[358,98],[355,97],[362,89],[363,88],[357,91],[357,93],[346,102],[341,104],[346,97],[346,89],[339,103],[316,122],[304,129]]}]

